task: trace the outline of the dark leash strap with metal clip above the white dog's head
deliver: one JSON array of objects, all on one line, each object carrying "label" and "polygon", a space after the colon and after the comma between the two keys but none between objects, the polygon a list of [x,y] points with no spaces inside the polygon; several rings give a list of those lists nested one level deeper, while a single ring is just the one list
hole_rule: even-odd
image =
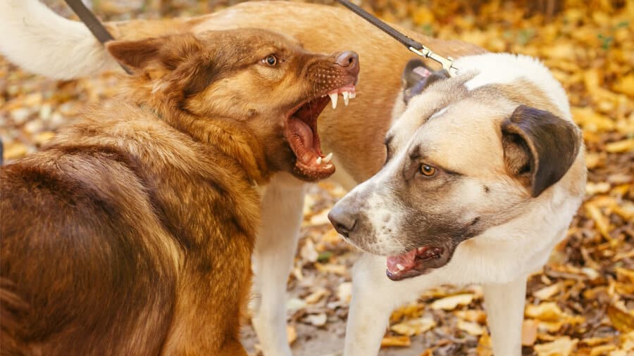
[{"label": "dark leash strap with metal clip above the white dog's head", "polygon": [[396,29],[394,29],[394,27],[387,25],[387,23],[384,23],[383,21],[376,18],[374,15],[371,15],[371,13],[368,13],[368,11],[365,11],[363,10],[363,8],[352,4],[352,2],[350,2],[349,0],[337,1],[339,2],[339,4],[342,4],[343,6],[348,8],[350,11],[361,16],[363,20],[366,20],[368,21],[368,23],[375,25],[376,27],[378,27],[379,30],[389,34],[393,39],[396,39],[398,42],[404,44],[410,51],[416,53],[418,56],[429,58],[432,61],[440,63],[440,65],[442,65],[442,69],[447,70],[447,72],[449,72],[449,75],[451,75],[452,77],[458,74],[458,68],[454,66],[453,58],[445,58],[437,53],[434,53],[432,50],[423,46],[423,44],[421,44],[420,42],[417,42],[414,39],[407,37],[405,34],[398,32]]}]

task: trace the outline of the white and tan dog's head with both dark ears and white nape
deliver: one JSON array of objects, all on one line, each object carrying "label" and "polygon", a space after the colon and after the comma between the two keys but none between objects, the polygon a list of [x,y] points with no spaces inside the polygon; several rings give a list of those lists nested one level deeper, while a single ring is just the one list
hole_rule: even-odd
[{"label": "white and tan dog's head with both dark ears and white nape", "polygon": [[385,166],[329,215],[347,241],[390,256],[394,280],[446,265],[461,241],[552,204],[557,189],[583,196],[580,130],[548,70],[509,54],[456,66],[450,78],[409,63]]}]

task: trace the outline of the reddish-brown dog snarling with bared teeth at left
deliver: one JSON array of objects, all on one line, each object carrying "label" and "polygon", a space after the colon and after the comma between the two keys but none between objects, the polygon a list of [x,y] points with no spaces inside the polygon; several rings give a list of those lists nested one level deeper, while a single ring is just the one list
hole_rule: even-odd
[{"label": "reddish-brown dog snarling with bared teeth at left", "polygon": [[254,29],[108,51],[121,95],[0,171],[2,355],[246,355],[258,185],[332,174],[316,117],[356,54]]}]

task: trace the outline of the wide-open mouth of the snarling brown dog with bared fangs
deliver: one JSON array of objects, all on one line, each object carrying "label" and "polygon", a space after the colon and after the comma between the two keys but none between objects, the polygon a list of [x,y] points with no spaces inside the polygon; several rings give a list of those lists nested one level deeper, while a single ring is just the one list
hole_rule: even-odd
[{"label": "wide-open mouth of the snarling brown dog with bared fangs", "polygon": [[335,172],[332,164],[332,153],[323,155],[321,142],[317,132],[317,117],[328,102],[336,108],[337,98],[341,94],[347,105],[350,98],[355,97],[354,84],[328,91],[306,101],[291,111],[285,128],[289,146],[295,154],[295,170],[306,179],[317,180],[330,177]]}]

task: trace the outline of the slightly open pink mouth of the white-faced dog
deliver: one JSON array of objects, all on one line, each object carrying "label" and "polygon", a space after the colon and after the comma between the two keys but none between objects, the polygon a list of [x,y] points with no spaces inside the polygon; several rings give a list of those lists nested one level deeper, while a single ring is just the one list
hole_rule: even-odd
[{"label": "slightly open pink mouth of the white-faced dog", "polygon": [[423,246],[402,255],[387,257],[386,274],[392,281],[419,276],[438,267],[447,265],[453,248]]}]

